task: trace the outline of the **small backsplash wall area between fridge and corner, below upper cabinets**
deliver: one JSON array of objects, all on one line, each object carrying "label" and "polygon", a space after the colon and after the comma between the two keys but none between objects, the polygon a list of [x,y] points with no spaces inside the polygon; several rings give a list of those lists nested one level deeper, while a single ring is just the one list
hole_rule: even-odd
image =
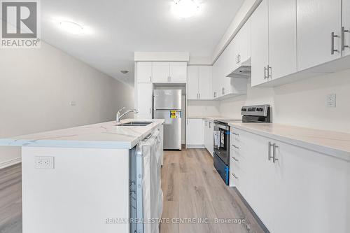
[{"label": "small backsplash wall area between fridge and corner, below upper cabinets", "polygon": [[216,116],[220,115],[219,101],[188,100],[187,116]]}]

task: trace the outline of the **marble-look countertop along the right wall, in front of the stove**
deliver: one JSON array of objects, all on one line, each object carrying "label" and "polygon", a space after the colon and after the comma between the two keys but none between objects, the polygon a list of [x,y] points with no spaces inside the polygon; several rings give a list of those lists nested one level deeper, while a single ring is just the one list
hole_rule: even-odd
[{"label": "marble-look countertop along the right wall, in front of the stove", "polygon": [[232,122],[232,127],[350,161],[350,134],[274,123]]}]

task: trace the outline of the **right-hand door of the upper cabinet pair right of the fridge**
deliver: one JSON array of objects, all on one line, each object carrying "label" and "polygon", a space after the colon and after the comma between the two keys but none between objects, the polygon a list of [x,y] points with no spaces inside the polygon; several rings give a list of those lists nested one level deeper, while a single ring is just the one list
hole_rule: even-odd
[{"label": "right-hand door of the upper cabinet pair right of the fridge", "polygon": [[199,67],[199,80],[198,90],[200,99],[212,99],[211,98],[211,76],[212,66],[200,66]]}]

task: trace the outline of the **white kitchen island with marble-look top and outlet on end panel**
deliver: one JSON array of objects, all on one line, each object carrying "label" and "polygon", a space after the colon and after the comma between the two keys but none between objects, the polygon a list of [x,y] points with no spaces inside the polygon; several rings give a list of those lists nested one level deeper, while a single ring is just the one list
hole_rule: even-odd
[{"label": "white kitchen island with marble-look top and outlet on end panel", "polygon": [[150,121],[0,139],[22,147],[23,232],[130,232],[130,151],[162,131],[164,120]]}]

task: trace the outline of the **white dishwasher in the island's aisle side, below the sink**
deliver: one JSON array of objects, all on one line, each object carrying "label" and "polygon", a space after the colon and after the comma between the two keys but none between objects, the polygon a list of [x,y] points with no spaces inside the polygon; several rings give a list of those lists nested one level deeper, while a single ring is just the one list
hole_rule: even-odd
[{"label": "white dishwasher in the island's aisle side, below the sink", "polygon": [[162,217],[161,134],[155,129],[130,152],[130,232],[158,233]]}]

